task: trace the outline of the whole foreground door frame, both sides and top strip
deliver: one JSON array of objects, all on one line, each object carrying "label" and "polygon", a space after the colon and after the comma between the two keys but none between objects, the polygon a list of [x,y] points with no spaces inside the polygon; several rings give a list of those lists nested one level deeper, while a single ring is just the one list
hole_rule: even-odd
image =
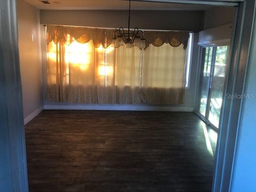
[{"label": "whole foreground door frame, both sides and top strip", "polygon": [[[138,0],[136,0],[138,1]],[[243,93],[244,77],[250,53],[250,41],[256,32],[252,31],[254,24],[254,0],[140,0],[151,2],[168,2],[184,4],[206,4],[219,6],[236,6],[234,30],[228,57],[229,71],[224,83],[225,94]],[[11,172],[9,190],[14,192],[28,192],[28,178],[26,170],[26,147],[24,140],[24,123],[22,111],[22,93],[20,83],[18,59],[18,32],[16,19],[16,0],[0,1],[1,30],[0,35],[0,65],[4,71],[0,73],[0,91],[5,96],[2,101],[5,114],[0,119],[2,129],[7,130],[6,138],[10,146]],[[4,41],[4,42],[3,42]],[[3,47],[8,49],[3,49]],[[9,56],[9,57],[8,57]],[[10,65],[11,63],[11,65]],[[14,89],[9,89],[10,85]],[[1,95],[1,96],[2,96]],[[216,165],[213,176],[212,192],[228,192],[232,175],[236,133],[240,119],[241,99],[224,99],[222,122],[220,124],[216,148]],[[15,105],[16,104],[16,105]],[[1,112],[1,111],[0,111]],[[6,112],[6,113],[5,113]],[[15,134],[14,134],[15,133]],[[6,149],[7,150],[7,149]],[[8,151],[7,151],[8,152]],[[2,174],[2,172],[1,172]]]}]

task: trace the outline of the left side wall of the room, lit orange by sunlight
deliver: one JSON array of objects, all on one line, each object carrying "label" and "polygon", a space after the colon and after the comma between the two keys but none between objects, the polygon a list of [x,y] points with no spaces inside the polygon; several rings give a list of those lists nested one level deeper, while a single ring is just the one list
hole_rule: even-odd
[{"label": "left side wall of the room, lit orange by sunlight", "polygon": [[17,0],[18,43],[25,124],[43,107],[39,10]]}]

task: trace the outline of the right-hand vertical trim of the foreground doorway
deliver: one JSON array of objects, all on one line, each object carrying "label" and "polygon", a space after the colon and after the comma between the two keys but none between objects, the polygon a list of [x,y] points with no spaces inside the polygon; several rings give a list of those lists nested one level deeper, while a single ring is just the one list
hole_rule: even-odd
[{"label": "right-hand vertical trim of the foreground doorway", "polygon": [[243,94],[245,72],[250,54],[250,41],[255,32],[254,24],[255,1],[247,0],[240,3],[235,10],[234,30],[228,57],[226,81],[224,83],[223,113],[217,143],[216,168],[212,192],[230,191],[234,149],[241,113],[242,99],[228,99],[226,94]]}]

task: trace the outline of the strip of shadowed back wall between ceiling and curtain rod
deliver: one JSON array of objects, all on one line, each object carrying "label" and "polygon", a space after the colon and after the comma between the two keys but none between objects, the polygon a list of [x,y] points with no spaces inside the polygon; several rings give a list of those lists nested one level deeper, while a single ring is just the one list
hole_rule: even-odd
[{"label": "strip of shadowed back wall between ceiling and curtain rod", "polygon": [[[128,28],[124,10],[40,10],[41,24]],[[131,28],[200,31],[203,11],[131,11]]]}]

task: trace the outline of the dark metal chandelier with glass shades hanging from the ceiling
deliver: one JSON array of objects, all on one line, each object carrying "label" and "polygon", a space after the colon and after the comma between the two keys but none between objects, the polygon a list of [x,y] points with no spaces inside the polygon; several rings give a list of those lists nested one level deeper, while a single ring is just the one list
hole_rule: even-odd
[{"label": "dark metal chandelier with glass shades hanging from the ceiling", "polygon": [[130,8],[131,8],[131,0],[129,0],[129,16],[128,16],[128,31],[124,30],[124,28],[120,27],[115,31],[114,38],[112,39],[111,45],[114,48],[118,48],[119,46],[125,46],[125,48],[132,48],[133,46],[137,46],[141,49],[146,47],[146,40],[144,39],[144,32],[135,28],[132,32],[130,30]]}]

